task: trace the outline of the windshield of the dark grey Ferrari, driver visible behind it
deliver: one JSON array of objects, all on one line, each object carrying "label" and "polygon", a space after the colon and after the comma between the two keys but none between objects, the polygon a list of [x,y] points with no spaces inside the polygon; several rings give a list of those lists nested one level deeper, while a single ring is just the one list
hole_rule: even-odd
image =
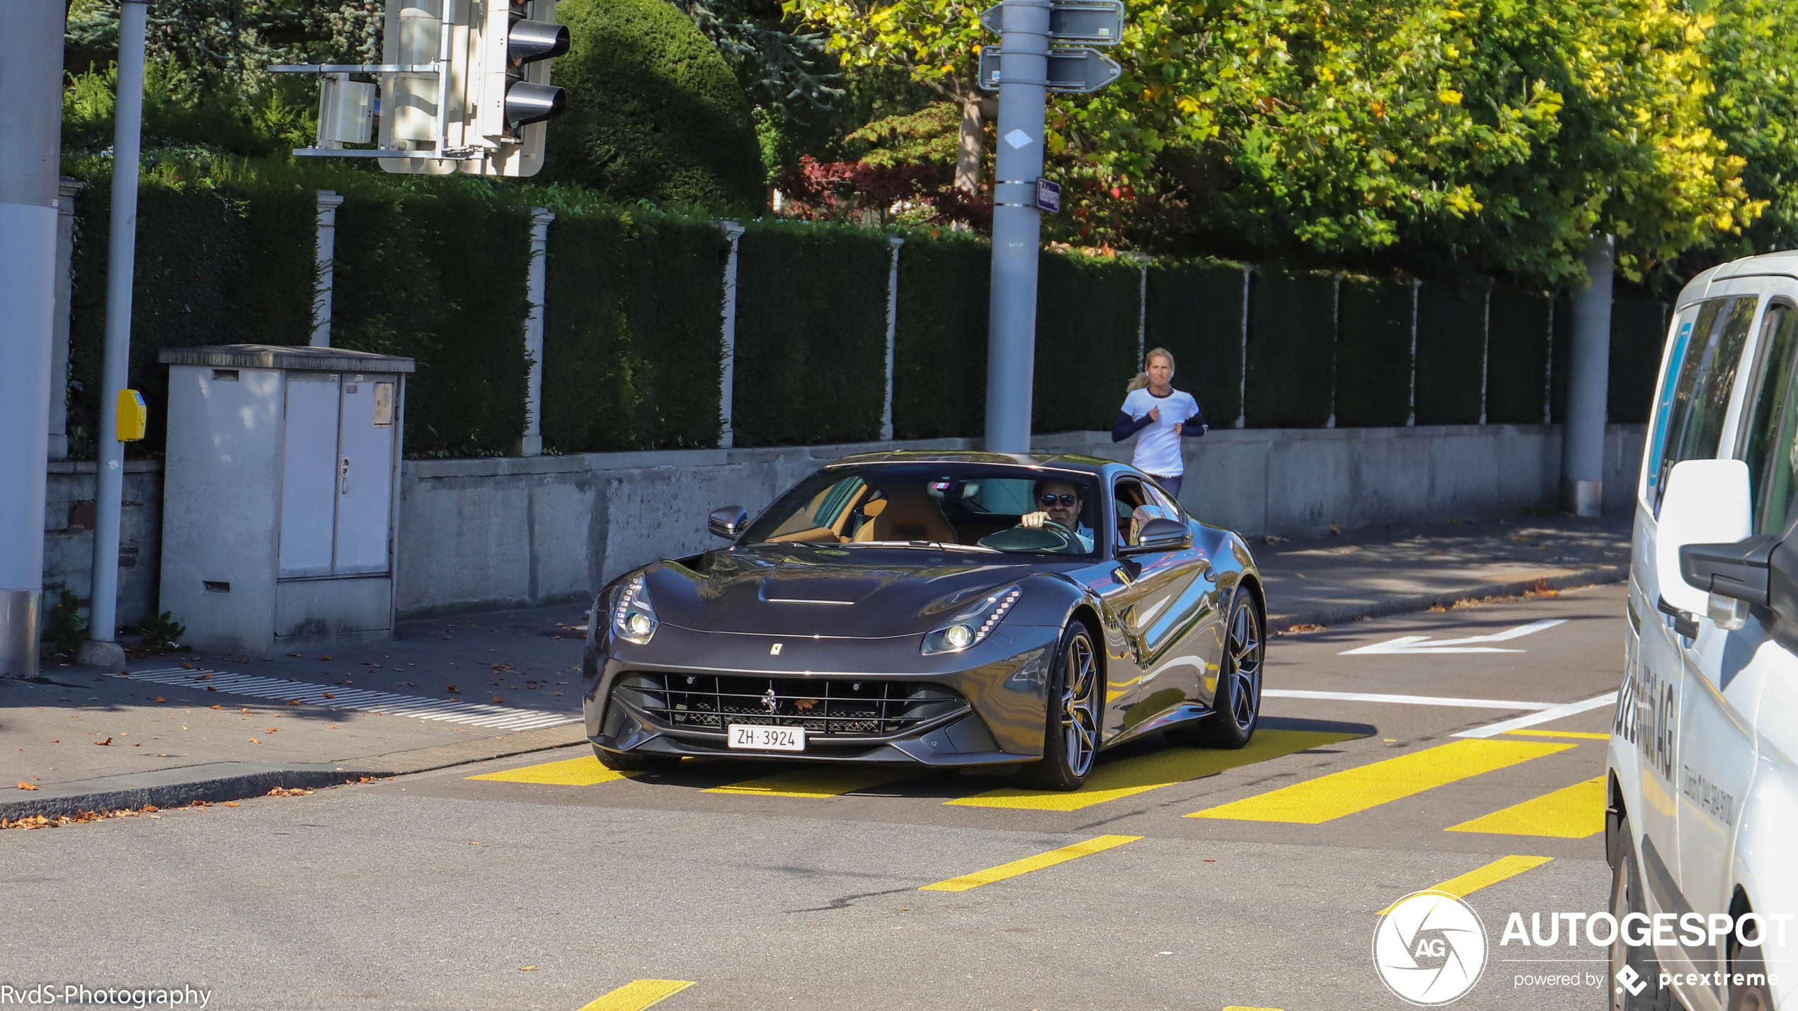
[{"label": "windshield of the dark grey Ferrari, driver visible behind it", "polygon": [[832,467],[780,496],[743,544],[1095,551],[1090,476],[978,463]]}]

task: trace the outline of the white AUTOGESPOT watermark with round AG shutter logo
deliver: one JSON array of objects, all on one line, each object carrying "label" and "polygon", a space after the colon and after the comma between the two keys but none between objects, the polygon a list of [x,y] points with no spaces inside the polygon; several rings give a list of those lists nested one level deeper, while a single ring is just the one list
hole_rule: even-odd
[{"label": "white AUTOGESPOT watermark with round AG shutter logo", "polygon": [[[1546,919],[1544,919],[1546,918]],[[1785,945],[1785,930],[1798,916],[1789,912],[1730,916],[1713,912],[1512,912],[1498,937],[1501,948],[1492,959],[1480,914],[1458,896],[1420,891],[1392,903],[1374,928],[1374,970],[1393,997],[1419,1007],[1453,1004],[1473,991],[1491,961],[1530,966],[1510,973],[1512,989],[1534,988],[1606,988],[1640,995],[1649,986],[1778,986],[1773,973],[1731,971],[1715,966],[1708,973],[1656,973],[1643,977],[1634,966],[1609,970],[1611,946],[1622,939],[1633,948],[1683,946],[1688,952],[1721,952],[1733,937],[1742,946],[1758,948],[1773,937]],[[1566,934],[1562,936],[1562,925]],[[1534,957],[1544,948],[1573,948],[1564,957]],[[1510,957],[1507,957],[1510,955]],[[1597,957],[1593,957],[1597,955]],[[1555,964],[1561,963],[1561,964]],[[1602,963],[1604,968],[1589,963]]]}]

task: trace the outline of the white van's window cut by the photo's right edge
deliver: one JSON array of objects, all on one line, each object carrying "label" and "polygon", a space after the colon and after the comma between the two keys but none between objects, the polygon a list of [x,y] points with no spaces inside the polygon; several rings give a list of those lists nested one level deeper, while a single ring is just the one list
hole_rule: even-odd
[{"label": "white van's window cut by the photo's right edge", "polygon": [[1755,413],[1749,415],[1746,453],[1753,492],[1755,533],[1784,533],[1798,487],[1798,311],[1776,303],[1760,325],[1760,365],[1755,368]]}]

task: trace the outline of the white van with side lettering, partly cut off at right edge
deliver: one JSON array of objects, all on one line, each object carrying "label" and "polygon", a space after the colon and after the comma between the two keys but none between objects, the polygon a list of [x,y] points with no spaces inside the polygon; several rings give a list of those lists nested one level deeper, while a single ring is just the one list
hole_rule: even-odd
[{"label": "white van with side lettering, partly cut off at right edge", "polygon": [[1661,356],[1606,822],[1611,914],[1654,930],[1611,946],[1613,1009],[1798,1011],[1794,492],[1798,253],[1773,253],[1694,278]]}]

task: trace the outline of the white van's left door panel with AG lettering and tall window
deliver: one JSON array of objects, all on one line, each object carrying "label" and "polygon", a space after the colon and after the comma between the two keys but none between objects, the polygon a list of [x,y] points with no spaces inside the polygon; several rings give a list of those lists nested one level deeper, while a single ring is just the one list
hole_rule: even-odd
[{"label": "white van's left door panel with AG lettering and tall window", "polygon": [[[1643,835],[1642,876],[1647,900],[1660,912],[1679,914],[1688,909],[1679,885],[1679,754],[1681,745],[1690,740],[1683,725],[1681,699],[1688,691],[1687,646],[1701,630],[1687,618],[1661,609],[1654,526],[1674,463],[1713,460],[1722,449],[1735,379],[1757,309],[1753,295],[1726,295],[1681,307],[1674,320],[1674,343],[1638,487],[1640,551],[1631,566],[1629,609],[1633,623],[1640,621],[1640,643],[1627,663],[1620,706],[1627,711],[1620,713],[1620,724],[1640,756],[1642,803],[1629,813]],[[1692,954],[1679,945],[1656,946],[1656,955],[1670,970],[1692,964]]]}]

